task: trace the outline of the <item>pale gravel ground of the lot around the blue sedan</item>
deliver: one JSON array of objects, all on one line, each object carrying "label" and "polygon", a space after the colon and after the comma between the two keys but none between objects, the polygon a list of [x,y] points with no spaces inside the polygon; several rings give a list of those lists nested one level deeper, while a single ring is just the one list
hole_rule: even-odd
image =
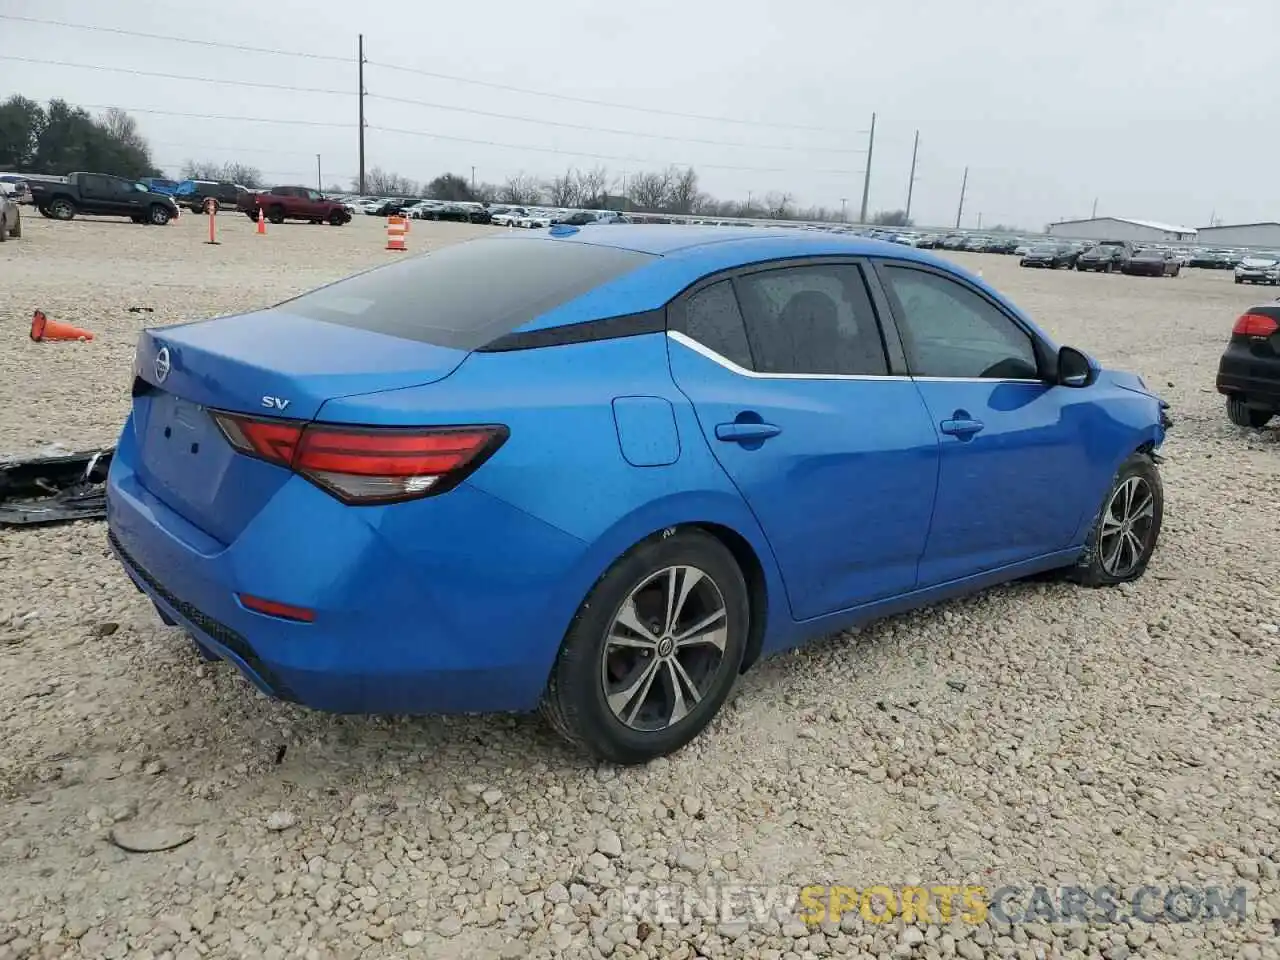
[{"label": "pale gravel ground of the lot around the blue sedan", "polygon": [[[0,247],[0,451],[113,442],[143,325],[394,256],[372,218],[219,224],[215,247],[196,216],[36,216]],[[488,230],[415,224],[410,246]],[[0,960],[1280,957],[1280,431],[1230,426],[1212,390],[1231,321],[1272,293],[966,262],[1171,401],[1144,580],[1018,584],[832,637],[755,668],[678,756],[611,769],[535,719],[269,701],[161,626],[102,525],[6,531]],[[35,307],[97,338],[31,343]],[[128,854],[113,827],[193,840]],[[920,882],[1152,884],[1156,911],[1169,886],[1242,886],[1247,915],[905,925],[854,909],[805,927],[754,915],[733,886]],[[628,890],[660,884],[739,900],[663,923]]]}]

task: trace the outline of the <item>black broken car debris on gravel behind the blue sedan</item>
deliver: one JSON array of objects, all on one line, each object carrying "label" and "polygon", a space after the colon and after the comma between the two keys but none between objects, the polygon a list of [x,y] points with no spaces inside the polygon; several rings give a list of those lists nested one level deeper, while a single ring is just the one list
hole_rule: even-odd
[{"label": "black broken car debris on gravel behind the blue sedan", "polygon": [[0,526],[69,524],[106,516],[114,447],[0,461]]}]

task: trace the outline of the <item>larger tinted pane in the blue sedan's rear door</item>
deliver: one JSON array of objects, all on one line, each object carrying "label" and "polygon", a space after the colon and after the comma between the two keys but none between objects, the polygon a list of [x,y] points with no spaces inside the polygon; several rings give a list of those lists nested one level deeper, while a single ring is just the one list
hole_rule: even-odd
[{"label": "larger tinted pane in the blue sedan's rear door", "polygon": [[860,268],[815,264],[733,280],[755,369],[765,374],[884,376],[888,362]]}]

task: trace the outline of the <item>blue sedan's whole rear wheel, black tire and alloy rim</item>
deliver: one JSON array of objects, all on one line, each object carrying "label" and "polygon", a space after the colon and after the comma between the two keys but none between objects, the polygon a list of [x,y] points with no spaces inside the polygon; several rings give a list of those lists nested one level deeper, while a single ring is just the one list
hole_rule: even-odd
[{"label": "blue sedan's whole rear wheel, black tire and alloy rim", "polygon": [[737,680],[750,628],[746,581],[710,534],[654,535],[596,581],[561,645],[543,716],[600,759],[678,750]]}]

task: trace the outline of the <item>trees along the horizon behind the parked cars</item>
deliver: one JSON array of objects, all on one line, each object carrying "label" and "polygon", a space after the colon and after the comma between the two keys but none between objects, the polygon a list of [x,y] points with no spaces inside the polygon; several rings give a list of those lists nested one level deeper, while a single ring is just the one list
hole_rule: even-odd
[{"label": "trees along the horizon behind the parked cars", "polygon": [[[64,100],[41,106],[14,95],[0,102],[0,170],[65,175],[92,170],[116,177],[161,177],[151,160],[151,148],[137,122],[123,110],[92,116]],[[182,179],[229,180],[244,187],[266,186],[259,168],[242,163],[187,160]],[[351,191],[358,191],[353,182]],[[475,183],[456,173],[444,173],[420,183],[374,166],[365,177],[365,189],[374,196],[430,197],[434,200],[480,201],[529,206],[618,210],[623,212],[676,214],[686,216],[768,218],[773,220],[842,220],[844,210],[824,206],[800,207],[786,192],[756,198],[718,200],[700,188],[694,168],[611,173],[604,166],[570,168],[563,174],[536,178],[525,173],[502,183]],[[329,192],[342,192],[330,184]],[[878,212],[873,223],[908,227],[900,210]]]}]

